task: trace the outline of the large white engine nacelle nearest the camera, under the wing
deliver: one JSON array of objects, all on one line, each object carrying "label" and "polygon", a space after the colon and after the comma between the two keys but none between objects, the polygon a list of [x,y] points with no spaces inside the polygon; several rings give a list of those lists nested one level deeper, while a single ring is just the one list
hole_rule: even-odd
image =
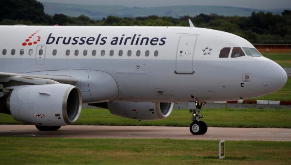
[{"label": "large white engine nacelle nearest the camera, under the wing", "polygon": [[80,90],[68,84],[29,85],[16,87],[7,100],[15,120],[40,126],[74,123],[80,116]]}]

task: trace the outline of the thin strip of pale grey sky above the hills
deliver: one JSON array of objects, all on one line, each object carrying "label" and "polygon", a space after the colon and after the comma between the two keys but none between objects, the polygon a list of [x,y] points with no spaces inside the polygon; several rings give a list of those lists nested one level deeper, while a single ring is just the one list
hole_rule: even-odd
[{"label": "thin strip of pale grey sky above the hills", "polygon": [[291,8],[291,0],[37,0],[86,5],[122,5],[128,7],[157,7],[174,5],[218,5],[254,9]]}]

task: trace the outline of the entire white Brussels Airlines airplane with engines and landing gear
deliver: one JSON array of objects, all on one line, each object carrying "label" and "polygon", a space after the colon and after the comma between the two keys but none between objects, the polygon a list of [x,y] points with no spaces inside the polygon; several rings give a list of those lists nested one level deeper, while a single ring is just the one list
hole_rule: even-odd
[{"label": "entire white Brussels Airlines airplane with engines and landing gear", "polygon": [[187,103],[190,132],[203,135],[207,102],[258,97],[287,82],[247,40],[189,23],[0,26],[0,112],[56,131],[79,118],[82,103],[134,120],[164,119]]}]

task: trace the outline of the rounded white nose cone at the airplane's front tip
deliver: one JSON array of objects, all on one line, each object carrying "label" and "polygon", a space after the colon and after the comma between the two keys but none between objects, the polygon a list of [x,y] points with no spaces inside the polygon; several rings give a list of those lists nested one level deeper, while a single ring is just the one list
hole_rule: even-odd
[{"label": "rounded white nose cone at the airplane's front tip", "polygon": [[263,83],[265,91],[273,93],[280,90],[287,82],[285,70],[275,62],[269,62],[263,70]]}]

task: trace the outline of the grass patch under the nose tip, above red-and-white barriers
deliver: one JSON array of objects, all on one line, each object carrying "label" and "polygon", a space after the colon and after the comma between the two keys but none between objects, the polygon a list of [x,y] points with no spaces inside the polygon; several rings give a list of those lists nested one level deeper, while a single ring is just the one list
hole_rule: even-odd
[{"label": "grass patch under the nose tip, above red-and-white barriers", "polygon": [[262,97],[252,98],[251,100],[281,100],[291,101],[291,77],[288,78],[287,83],[283,88]]}]

